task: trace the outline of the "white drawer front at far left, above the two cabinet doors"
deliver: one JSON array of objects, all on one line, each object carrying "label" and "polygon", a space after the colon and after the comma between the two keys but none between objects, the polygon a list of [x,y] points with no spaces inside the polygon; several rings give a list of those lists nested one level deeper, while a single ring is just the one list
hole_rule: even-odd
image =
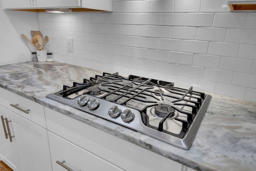
[{"label": "white drawer front at far left, above the two cabinet doors", "polygon": [[[34,123],[37,123],[38,125],[46,128],[43,105],[40,105],[34,101],[26,99],[25,97],[22,97],[20,95],[14,94],[3,88],[0,88],[0,94],[1,94],[0,96],[1,105],[29,119],[30,121],[33,121]],[[21,109],[24,109],[24,110],[29,109],[29,111],[28,113],[25,113],[24,111],[21,111],[11,106],[10,104],[13,104],[13,105],[18,104],[17,107],[20,107]]]}]

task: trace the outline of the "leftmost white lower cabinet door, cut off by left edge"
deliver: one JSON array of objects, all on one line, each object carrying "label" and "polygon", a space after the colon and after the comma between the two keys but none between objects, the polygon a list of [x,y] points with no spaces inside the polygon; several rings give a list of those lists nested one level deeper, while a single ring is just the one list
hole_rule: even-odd
[{"label": "leftmost white lower cabinet door, cut off by left edge", "polygon": [[21,171],[17,139],[16,137],[13,137],[12,142],[10,142],[9,136],[7,136],[7,139],[5,136],[8,133],[6,119],[10,121],[8,122],[10,135],[16,136],[13,130],[13,121],[10,113],[11,111],[0,105],[0,115],[2,116],[0,121],[0,160],[4,161],[4,163],[6,163],[13,170]]}]

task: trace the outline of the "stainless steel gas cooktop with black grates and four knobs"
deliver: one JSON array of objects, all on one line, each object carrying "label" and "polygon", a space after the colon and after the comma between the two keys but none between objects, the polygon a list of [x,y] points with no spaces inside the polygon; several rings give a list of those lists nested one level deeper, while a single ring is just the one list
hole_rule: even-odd
[{"label": "stainless steel gas cooktop with black grates and four knobs", "polygon": [[46,97],[189,149],[211,96],[172,82],[103,73]]}]

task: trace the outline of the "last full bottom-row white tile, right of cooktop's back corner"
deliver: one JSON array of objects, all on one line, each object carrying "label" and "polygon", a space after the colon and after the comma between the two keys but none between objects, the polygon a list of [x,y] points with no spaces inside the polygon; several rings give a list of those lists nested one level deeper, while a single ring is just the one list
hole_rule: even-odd
[{"label": "last full bottom-row white tile, right of cooktop's back corner", "polygon": [[217,83],[215,93],[244,99],[246,87]]}]

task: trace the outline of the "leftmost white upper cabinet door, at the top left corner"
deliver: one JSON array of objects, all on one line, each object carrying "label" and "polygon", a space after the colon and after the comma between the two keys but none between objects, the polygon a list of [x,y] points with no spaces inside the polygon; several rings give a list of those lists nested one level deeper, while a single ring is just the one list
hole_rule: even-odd
[{"label": "leftmost white upper cabinet door, at the top left corner", "polygon": [[4,9],[33,8],[33,0],[2,0]]}]

